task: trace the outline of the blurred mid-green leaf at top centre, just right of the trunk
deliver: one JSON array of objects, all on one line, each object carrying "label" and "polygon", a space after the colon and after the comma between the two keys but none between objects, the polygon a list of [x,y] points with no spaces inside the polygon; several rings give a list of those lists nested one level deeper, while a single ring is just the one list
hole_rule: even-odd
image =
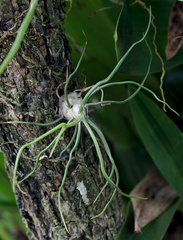
[{"label": "blurred mid-green leaf at top centre, just right of the trunk", "polygon": [[88,45],[78,75],[82,72],[87,86],[105,78],[116,64],[113,34],[120,10],[120,5],[106,0],[73,1],[65,30],[75,66],[85,43],[82,30],[85,32]]}]

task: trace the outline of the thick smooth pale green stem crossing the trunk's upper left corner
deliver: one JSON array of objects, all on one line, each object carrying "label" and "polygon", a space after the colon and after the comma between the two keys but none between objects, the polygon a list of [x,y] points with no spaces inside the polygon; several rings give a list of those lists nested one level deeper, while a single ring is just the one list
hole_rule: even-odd
[{"label": "thick smooth pale green stem crossing the trunk's upper left corner", "polygon": [[0,75],[4,72],[5,68],[7,67],[7,65],[9,64],[9,62],[11,61],[11,59],[15,56],[16,52],[18,51],[20,44],[23,40],[23,37],[25,35],[25,32],[32,20],[34,11],[36,9],[36,6],[38,4],[38,0],[32,0],[30,3],[30,7],[29,7],[29,11],[26,15],[26,17],[24,18],[19,30],[18,30],[18,34],[17,37],[13,43],[12,48],[10,49],[9,53],[7,54],[6,58],[4,59],[4,61],[1,63],[0,65]]}]

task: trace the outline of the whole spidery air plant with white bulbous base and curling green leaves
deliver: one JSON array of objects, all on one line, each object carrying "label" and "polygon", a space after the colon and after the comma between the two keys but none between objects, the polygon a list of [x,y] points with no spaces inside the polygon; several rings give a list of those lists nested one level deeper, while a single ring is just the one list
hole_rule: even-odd
[{"label": "whole spidery air plant with white bulbous base and curling green leaves", "polygon": [[[37,1],[34,1],[35,3],[37,3]],[[77,146],[79,144],[80,141],[80,136],[81,136],[81,131],[82,131],[82,126],[84,125],[85,128],[88,131],[88,134],[90,135],[92,141],[93,141],[93,145],[96,149],[96,153],[99,159],[99,163],[100,163],[100,169],[102,172],[103,177],[106,180],[105,185],[103,186],[103,188],[101,189],[101,191],[99,192],[99,194],[96,196],[95,201],[97,201],[97,199],[100,197],[101,193],[105,190],[105,188],[107,187],[107,185],[111,185],[113,187],[113,192],[111,194],[111,196],[109,196],[109,200],[106,203],[105,207],[101,210],[101,212],[99,214],[97,214],[96,216],[92,217],[99,217],[100,215],[102,215],[105,210],[107,209],[107,207],[109,206],[109,204],[111,203],[112,199],[115,196],[115,193],[118,192],[120,193],[122,196],[124,197],[129,197],[129,198],[141,198],[141,197],[136,197],[136,196],[131,196],[128,195],[126,193],[124,193],[119,187],[119,173],[118,173],[118,169],[116,167],[115,161],[112,157],[109,145],[105,139],[104,134],[102,133],[102,131],[100,130],[100,128],[97,126],[97,124],[90,118],[89,114],[88,114],[88,110],[91,106],[96,106],[96,105],[101,105],[101,104],[124,104],[128,101],[130,101],[133,97],[135,97],[135,95],[141,90],[146,90],[148,91],[150,94],[152,94],[156,100],[158,100],[159,102],[164,103],[167,107],[169,107],[171,109],[171,107],[165,103],[164,101],[162,101],[161,99],[159,99],[154,92],[152,92],[150,89],[146,88],[144,86],[144,83],[148,77],[149,71],[150,71],[150,66],[151,66],[151,60],[152,60],[152,54],[151,54],[151,50],[146,42],[146,45],[149,49],[150,52],[150,61],[149,61],[149,65],[148,65],[148,69],[147,69],[147,73],[143,79],[143,81],[141,82],[141,84],[134,82],[134,81],[122,81],[122,82],[110,82],[110,80],[112,79],[112,77],[115,75],[115,73],[118,71],[118,69],[120,68],[120,66],[122,65],[123,61],[126,59],[126,57],[128,56],[128,54],[131,52],[131,50],[140,42],[144,41],[147,33],[149,31],[151,25],[151,11],[150,11],[150,15],[149,15],[149,22],[148,22],[148,26],[147,29],[145,31],[145,33],[143,34],[142,38],[138,41],[136,41],[129,49],[128,51],[125,53],[125,55],[119,60],[119,62],[116,64],[116,66],[114,67],[114,69],[112,70],[112,72],[109,74],[109,76],[107,76],[105,79],[98,81],[95,85],[93,85],[92,87],[86,88],[86,93],[85,95],[82,97],[82,92],[78,92],[77,90],[75,90],[74,92],[68,93],[68,84],[70,83],[73,75],[76,73],[76,71],[78,70],[81,60],[83,58],[85,49],[86,49],[86,45],[84,47],[84,50],[82,52],[82,55],[78,61],[78,64],[74,70],[74,72],[72,74],[70,74],[70,76],[66,79],[66,83],[64,86],[64,95],[60,98],[61,99],[61,104],[60,104],[60,109],[59,109],[59,114],[60,117],[52,122],[52,123],[35,123],[35,122],[21,122],[21,121],[10,121],[10,122],[6,122],[6,123],[12,123],[12,124],[33,124],[33,125],[39,125],[39,126],[48,126],[48,125],[52,125],[52,124],[57,124],[56,126],[54,126],[52,129],[50,129],[49,131],[45,132],[44,134],[42,134],[41,136],[35,138],[33,141],[24,144],[20,149],[19,152],[16,156],[16,161],[15,161],[15,166],[14,166],[14,171],[13,171],[13,191],[15,191],[15,186],[17,184],[17,171],[18,171],[18,166],[19,166],[19,162],[21,159],[21,155],[24,151],[25,148],[30,147],[33,144],[36,144],[37,142],[41,141],[42,139],[48,137],[50,134],[58,132],[56,137],[52,140],[52,142],[47,145],[44,149],[42,149],[39,154],[36,157],[36,161],[35,161],[35,165],[33,170],[27,174],[23,179],[19,180],[18,183],[21,183],[23,181],[25,181],[26,179],[28,179],[33,173],[35,173],[39,160],[41,159],[41,157],[45,154],[45,152],[47,152],[49,149],[51,149],[50,151],[50,155],[49,157],[51,158],[57,145],[59,140],[61,139],[61,137],[63,137],[63,134],[66,132],[67,129],[69,128],[74,128],[74,134],[72,136],[72,138],[70,139],[69,143],[67,144],[67,146],[65,147],[65,149],[62,150],[62,152],[60,153],[60,157],[62,156],[62,154],[71,146],[71,150],[69,153],[69,159],[68,162],[65,166],[65,170],[64,170],[64,175],[62,178],[62,182],[61,185],[59,187],[58,190],[58,197],[57,197],[57,202],[58,202],[58,208],[59,208],[59,212],[61,215],[61,219],[62,222],[65,226],[65,229],[67,230],[67,232],[69,232],[68,227],[66,225],[65,219],[64,219],[64,215],[62,213],[62,206],[61,206],[61,192],[63,190],[63,186],[68,174],[68,169],[69,166],[72,162],[73,159],[73,154],[77,149]],[[25,30],[25,29],[24,29]],[[4,67],[3,67],[4,68]],[[114,85],[135,85],[137,88],[135,90],[135,92],[129,96],[127,99],[124,99],[122,101],[112,101],[112,100],[101,100],[98,102],[90,102],[91,97],[107,88],[107,87],[112,87]],[[171,109],[172,111],[174,111],[173,109]],[[61,120],[64,119],[67,122],[61,122]],[[102,143],[103,148],[107,154],[107,157],[111,163],[111,171],[110,174],[108,174],[106,172],[106,168],[105,168],[105,160],[103,157],[103,154],[101,152],[101,147],[99,145],[99,141]],[[115,181],[113,180],[115,179]],[[141,198],[141,199],[145,199],[145,198]]]}]

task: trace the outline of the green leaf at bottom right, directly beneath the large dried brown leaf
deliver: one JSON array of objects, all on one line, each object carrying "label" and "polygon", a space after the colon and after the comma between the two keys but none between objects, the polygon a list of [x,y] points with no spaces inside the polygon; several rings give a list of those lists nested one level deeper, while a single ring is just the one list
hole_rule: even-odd
[{"label": "green leaf at bottom right, directly beneath the large dried brown leaf", "polygon": [[146,227],[142,228],[142,233],[134,232],[133,208],[131,202],[128,205],[126,222],[119,232],[116,240],[161,240],[165,235],[168,226],[173,218],[175,211],[180,204],[176,200],[171,206],[166,209],[158,218],[150,222]]}]

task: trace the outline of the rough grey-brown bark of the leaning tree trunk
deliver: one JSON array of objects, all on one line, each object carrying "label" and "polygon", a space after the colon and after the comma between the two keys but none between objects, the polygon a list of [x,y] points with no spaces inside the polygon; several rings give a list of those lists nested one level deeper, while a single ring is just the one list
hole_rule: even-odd
[{"label": "rough grey-brown bark of the leaning tree trunk", "polygon": [[[2,0],[0,7],[0,61],[12,46],[17,30],[29,7],[29,0]],[[51,122],[57,118],[57,86],[65,81],[70,48],[61,30],[64,2],[40,0],[21,47],[0,77],[0,121],[21,120]],[[71,63],[70,63],[71,64]],[[71,68],[71,67],[70,67]],[[71,69],[69,69],[71,71]],[[72,91],[76,81],[70,86]],[[63,92],[60,91],[60,95]],[[6,157],[6,169],[12,180],[17,152],[51,127],[32,125],[1,125],[0,146]],[[82,131],[69,175],[61,194],[67,234],[60,219],[57,192],[68,154],[60,159],[59,152],[72,136],[70,129],[60,141],[53,158],[40,161],[34,175],[16,186],[18,208],[28,229],[29,239],[114,239],[122,225],[121,197],[116,196],[101,217],[90,217],[102,210],[113,189],[108,188],[93,206],[92,202],[105,183],[90,137]],[[37,154],[54,135],[27,148],[18,168],[18,178],[30,172]],[[83,141],[84,139],[84,141]],[[77,183],[84,183],[89,202],[83,201]]]}]

